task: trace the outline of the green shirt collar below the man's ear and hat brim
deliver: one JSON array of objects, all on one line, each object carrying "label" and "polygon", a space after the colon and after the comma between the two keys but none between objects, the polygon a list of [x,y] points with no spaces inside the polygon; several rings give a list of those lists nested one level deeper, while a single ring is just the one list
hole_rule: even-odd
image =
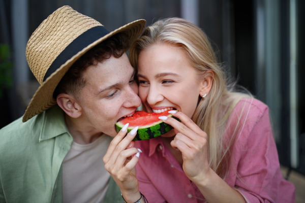
[{"label": "green shirt collar below the man's ear and hat brim", "polygon": [[54,138],[64,133],[70,135],[66,126],[64,111],[60,109],[58,105],[55,105],[43,112],[43,122],[39,142]]}]

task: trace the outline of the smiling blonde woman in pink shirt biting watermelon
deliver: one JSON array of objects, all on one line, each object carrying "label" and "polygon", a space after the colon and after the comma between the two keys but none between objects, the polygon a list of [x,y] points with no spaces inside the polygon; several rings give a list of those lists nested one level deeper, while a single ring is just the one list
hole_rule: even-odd
[{"label": "smiling blonde woman in pink shirt biting watermelon", "polygon": [[146,110],[173,108],[182,122],[160,117],[175,129],[136,142],[140,159],[127,158],[137,150],[122,149],[130,140],[120,146],[123,136],[114,139],[124,155],[106,165],[123,196],[141,191],[151,202],[294,201],[294,187],[280,172],[267,106],[226,85],[199,27],[179,18],[159,20],[134,43],[130,61]]}]

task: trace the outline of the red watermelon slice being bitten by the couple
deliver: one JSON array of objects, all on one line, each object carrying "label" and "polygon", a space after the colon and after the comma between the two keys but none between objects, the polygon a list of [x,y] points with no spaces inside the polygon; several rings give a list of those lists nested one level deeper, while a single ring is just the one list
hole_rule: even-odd
[{"label": "red watermelon slice being bitten by the couple", "polygon": [[145,111],[136,111],[132,116],[123,118],[117,123],[115,123],[116,131],[119,132],[125,124],[129,123],[127,128],[128,132],[130,132],[130,130],[132,130],[133,128],[139,126],[134,141],[157,138],[173,129],[171,125],[164,123],[163,120],[160,120],[160,116],[173,117],[174,119],[180,122],[178,118],[168,113],[168,111],[170,110],[161,113],[147,113]]}]

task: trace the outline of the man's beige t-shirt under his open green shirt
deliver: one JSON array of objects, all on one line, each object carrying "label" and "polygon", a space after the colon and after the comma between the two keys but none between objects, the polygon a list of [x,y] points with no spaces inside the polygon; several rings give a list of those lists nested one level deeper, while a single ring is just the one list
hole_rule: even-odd
[{"label": "man's beige t-shirt under his open green shirt", "polygon": [[103,134],[93,143],[72,143],[63,161],[64,202],[103,202],[110,174],[105,169],[103,157],[112,138]]}]

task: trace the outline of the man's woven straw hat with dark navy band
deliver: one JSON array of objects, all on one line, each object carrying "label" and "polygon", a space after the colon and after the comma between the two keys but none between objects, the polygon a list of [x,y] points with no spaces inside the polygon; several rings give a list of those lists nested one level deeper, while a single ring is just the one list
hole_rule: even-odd
[{"label": "man's woven straw hat with dark navy band", "polygon": [[29,103],[22,122],[56,104],[53,92],[69,67],[89,49],[118,32],[134,42],[145,27],[136,20],[109,32],[101,23],[69,6],[57,9],[34,31],[26,45],[26,60],[41,86]]}]

